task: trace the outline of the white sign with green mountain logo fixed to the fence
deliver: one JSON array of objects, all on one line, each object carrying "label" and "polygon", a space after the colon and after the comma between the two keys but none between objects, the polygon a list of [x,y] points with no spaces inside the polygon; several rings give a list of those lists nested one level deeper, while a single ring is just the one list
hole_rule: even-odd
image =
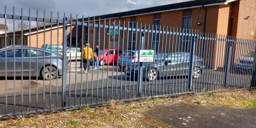
[{"label": "white sign with green mountain logo fixed to the fence", "polygon": [[140,50],[140,62],[154,62],[154,50]]}]

